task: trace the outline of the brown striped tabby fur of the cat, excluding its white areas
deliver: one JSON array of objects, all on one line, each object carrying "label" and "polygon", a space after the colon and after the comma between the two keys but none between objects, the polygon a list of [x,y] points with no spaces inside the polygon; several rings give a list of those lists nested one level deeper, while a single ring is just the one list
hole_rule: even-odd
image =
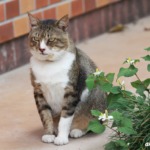
[{"label": "brown striped tabby fur of the cat, excluding its white areas", "polygon": [[[98,88],[89,92],[86,101],[80,101],[82,92],[86,87],[85,79],[88,74],[95,72],[96,65],[86,54],[75,47],[69,37],[67,26],[65,26],[68,23],[68,17],[65,16],[58,21],[40,21],[29,14],[29,18],[32,26],[29,33],[29,46],[32,49],[31,51],[38,52],[39,41],[44,38],[48,46],[57,48],[58,51],[68,49],[69,47],[68,50],[76,56],[71,70],[68,73],[70,81],[67,87],[65,87],[62,110],[59,114],[53,113],[51,106],[44,97],[41,85],[36,82],[36,77],[31,69],[31,82],[34,88],[35,102],[44,126],[45,134],[54,134],[54,132],[57,134],[60,117],[67,118],[73,114],[74,119],[70,130],[81,129],[85,131],[89,121],[92,119],[90,110],[98,109],[104,111],[106,107],[106,95]],[[52,58],[53,55],[49,56],[49,58],[44,58],[43,61],[52,63]]]}]

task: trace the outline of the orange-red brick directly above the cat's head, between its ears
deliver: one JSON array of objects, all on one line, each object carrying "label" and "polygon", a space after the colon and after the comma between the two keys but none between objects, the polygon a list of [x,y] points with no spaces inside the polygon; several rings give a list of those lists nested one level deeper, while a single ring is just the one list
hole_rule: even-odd
[{"label": "orange-red brick directly above the cat's head, between its ears", "polygon": [[56,18],[56,9],[50,8],[44,11],[44,19],[55,19]]}]

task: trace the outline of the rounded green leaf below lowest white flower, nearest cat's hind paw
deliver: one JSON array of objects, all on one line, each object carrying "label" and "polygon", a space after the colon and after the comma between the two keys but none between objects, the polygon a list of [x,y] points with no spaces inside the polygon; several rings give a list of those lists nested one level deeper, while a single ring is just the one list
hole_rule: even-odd
[{"label": "rounded green leaf below lowest white flower, nearest cat's hind paw", "polygon": [[100,134],[105,131],[105,126],[100,124],[98,120],[92,120],[89,122],[88,131],[92,131],[94,133]]}]

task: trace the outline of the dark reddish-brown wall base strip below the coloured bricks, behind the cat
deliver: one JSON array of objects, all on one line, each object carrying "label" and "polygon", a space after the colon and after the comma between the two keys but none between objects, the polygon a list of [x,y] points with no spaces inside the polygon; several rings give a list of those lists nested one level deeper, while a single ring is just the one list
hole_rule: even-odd
[{"label": "dark reddish-brown wall base strip below the coloured bricks, behind the cat", "polygon": [[[78,43],[150,15],[149,0],[122,0],[70,20],[70,34]],[[0,45],[0,74],[29,62],[27,35]]]}]

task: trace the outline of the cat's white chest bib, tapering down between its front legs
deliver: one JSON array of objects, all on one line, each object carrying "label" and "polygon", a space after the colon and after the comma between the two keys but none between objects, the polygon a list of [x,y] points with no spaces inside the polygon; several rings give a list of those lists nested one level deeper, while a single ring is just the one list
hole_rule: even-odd
[{"label": "cat's white chest bib, tapering down between its front legs", "polygon": [[44,97],[54,114],[61,111],[64,88],[69,81],[68,72],[74,59],[75,55],[67,52],[60,60],[55,62],[39,61],[34,57],[30,60],[36,82],[41,84]]}]

